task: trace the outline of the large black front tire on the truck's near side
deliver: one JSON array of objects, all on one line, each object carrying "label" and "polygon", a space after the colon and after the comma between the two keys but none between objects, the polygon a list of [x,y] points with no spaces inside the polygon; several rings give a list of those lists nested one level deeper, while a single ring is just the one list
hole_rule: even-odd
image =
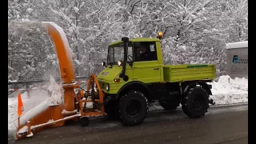
[{"label": "large black front tire on the truck's near side", "polygon": [[130,90],[118,102],[118,117],[125,126],[141,124],[148,110],[147,99],[140,91]]}]

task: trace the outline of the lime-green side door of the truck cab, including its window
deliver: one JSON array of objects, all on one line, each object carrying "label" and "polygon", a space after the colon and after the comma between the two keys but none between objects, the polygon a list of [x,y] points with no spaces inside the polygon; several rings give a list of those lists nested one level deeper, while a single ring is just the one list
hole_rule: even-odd
[{"label": "lime-green side door of the truck cab, including its window", "polygon": [[155,42],[134,42],[134,81],[160,82],[161,69]]}]

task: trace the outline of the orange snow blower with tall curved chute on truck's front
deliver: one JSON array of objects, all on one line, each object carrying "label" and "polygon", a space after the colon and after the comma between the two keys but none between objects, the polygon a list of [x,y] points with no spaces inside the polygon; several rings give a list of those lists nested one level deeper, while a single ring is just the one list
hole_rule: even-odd
[{"label": "orange snow blower with tall curved chute on truck's front", "polygon": [[[74,79],[74,66],[70,46],[62,28],[54,22],[42,22],[42,26],[46,27],[58,55],[62,79],[61,86],[64,90],[64,102],[50,102],[53,97],[52,95],[38,106],[26,112],[26,114],[18,117],[16,139],[33,136],[33,133],[48,127],[63,126],[67,120],[80,118],[82,126],[87,126],[89,124],[87,117],[105,114],[103,106],[104,94],[94,74],[90,75],[85,94],[83,90],[78,90],[78,94],[74,93],[74,89],[79,88],[79,85]],[[97,86],[97,91],[94,90],[94,86]],[[88,99],[89,97],[91,98]],[[86,102],[93,102],[93,108],[87,109]]]}]

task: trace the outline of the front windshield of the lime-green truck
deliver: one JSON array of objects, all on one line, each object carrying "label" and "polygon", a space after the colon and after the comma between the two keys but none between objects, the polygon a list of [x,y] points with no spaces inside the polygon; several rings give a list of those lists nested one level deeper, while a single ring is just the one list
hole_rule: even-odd
[{"label": "front windshield of the lime-green truck", "polygon": [[110,65],[110,64],[117,65],[119,60],[123,61],[123,55],[124,55],[123,43],[110,46],[109,53],[107,56],[107,65]]}]

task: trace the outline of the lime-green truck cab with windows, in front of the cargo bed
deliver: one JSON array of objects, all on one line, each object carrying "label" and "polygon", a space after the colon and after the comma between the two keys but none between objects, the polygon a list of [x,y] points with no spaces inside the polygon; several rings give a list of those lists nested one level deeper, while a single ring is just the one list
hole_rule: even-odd
[{"label": "lime-green truck cab with windows, in front of the cargo bed", "polygon": [[[128,77],[126,82],[130,80],[150,83],[163,80],[162,50],[158,38],[130,39],[127,43],[126,57],[126,76]],[[122,41],[110,43],[106,62],[107,71],[103,70],[98,74],[98,79],[106,78],[106,73],[114,73],[117,76],[115,78],[118,78],[124,61],[124,43]]]}]

